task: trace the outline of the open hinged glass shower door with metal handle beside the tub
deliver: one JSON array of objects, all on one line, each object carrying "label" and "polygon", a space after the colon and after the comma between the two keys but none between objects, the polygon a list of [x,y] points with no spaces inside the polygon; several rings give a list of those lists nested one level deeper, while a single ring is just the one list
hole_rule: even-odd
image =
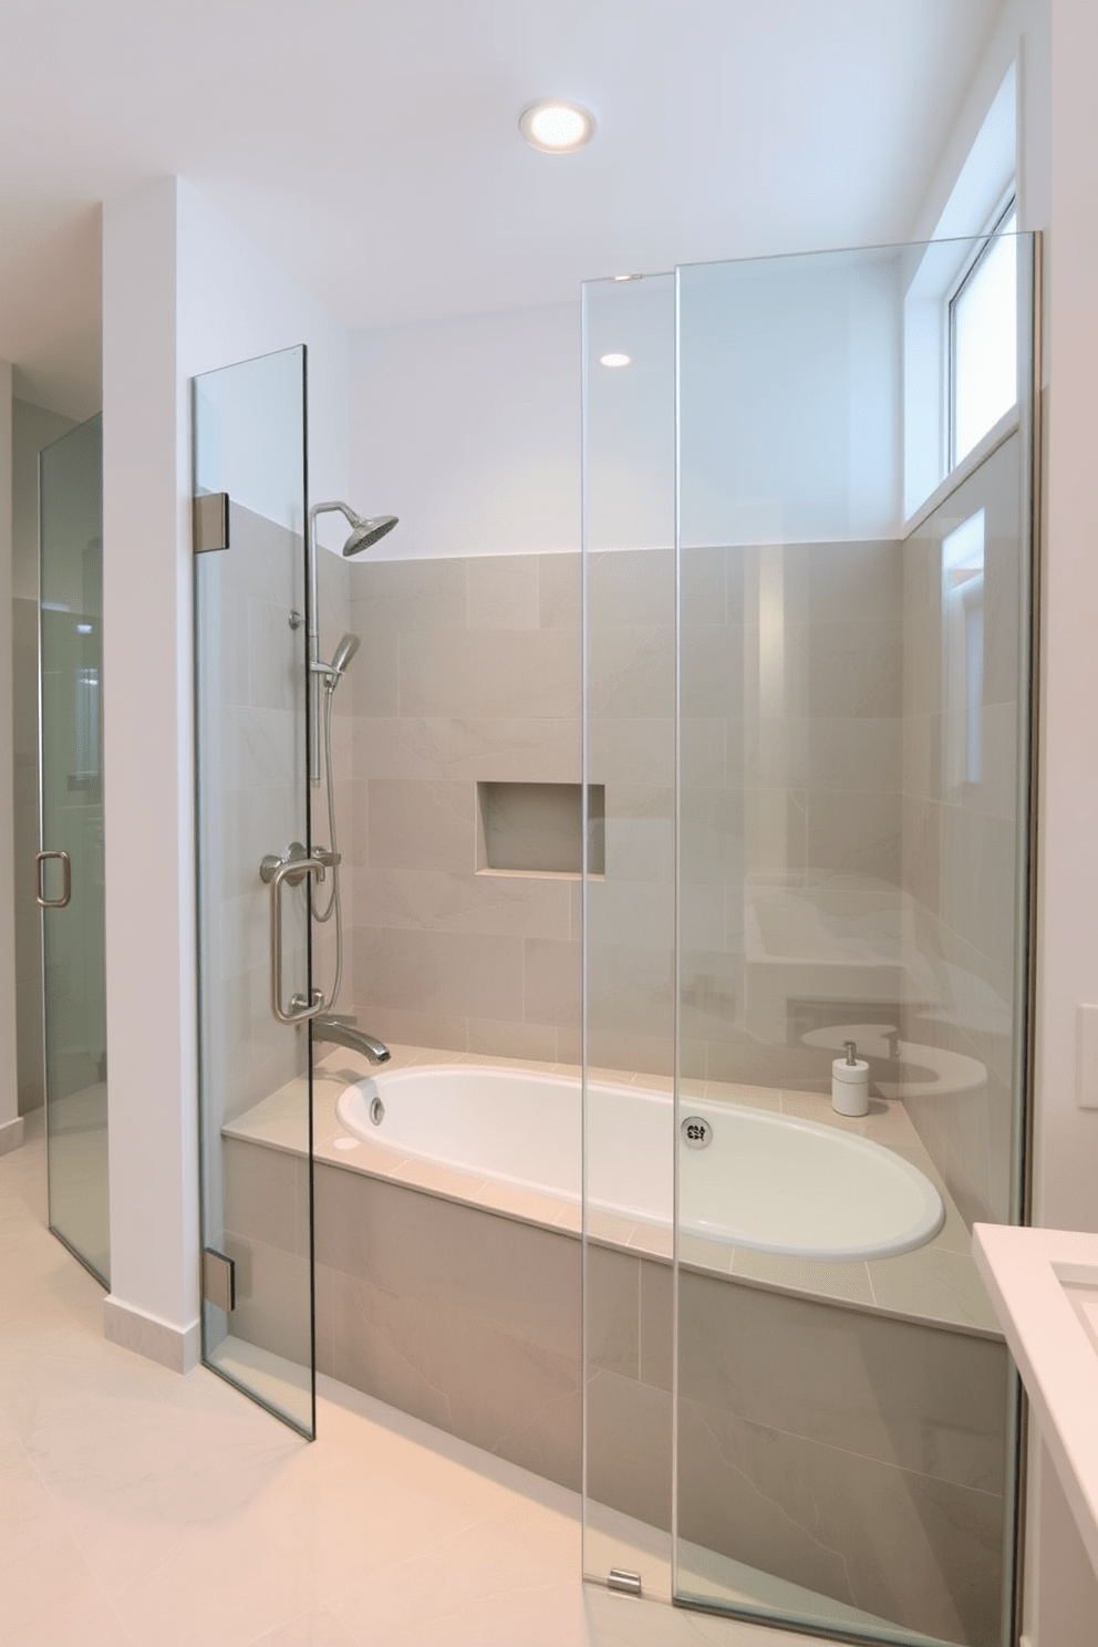
[{"label": "open hinged glass shower door with metal handle beside the tub", "polygon": [[194,558],[202,1359],[311,1436],[308,1023],[275,1016],[311,1000],[311,879],[270,878],[309,851],[305,488],[305,349],[198,377],[194,492],[229,499]]}]

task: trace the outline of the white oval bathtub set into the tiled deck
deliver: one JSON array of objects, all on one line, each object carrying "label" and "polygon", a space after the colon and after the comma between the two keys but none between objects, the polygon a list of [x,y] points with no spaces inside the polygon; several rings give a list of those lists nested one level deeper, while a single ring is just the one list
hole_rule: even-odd
[{"label": "white oval bathtub set into the tiled deck", "polygon": [[[380,1125],[370,1103],[380,1097]],[[430,1064],[357,1080],[336,1113],[357,1138],[400,1156],[579,1201],[579,1082],[520,1069]],[[680,1229],[798,1258],[881,1258],[922,1247],[945,1209],[910,1161],[856,1133],[736,1103],[680,1100],[713,1128],[680,1151]],[[672,1222],[670,1095],[588,1085],[588,1202]]]}]

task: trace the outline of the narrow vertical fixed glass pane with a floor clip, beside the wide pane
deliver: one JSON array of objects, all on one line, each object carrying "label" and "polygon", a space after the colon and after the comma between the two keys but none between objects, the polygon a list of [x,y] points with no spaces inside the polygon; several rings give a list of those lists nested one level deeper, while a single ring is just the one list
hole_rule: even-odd
[{"label": "narrow vertical fixed glass pane with a floor clip, beside the wide pane", "polygon": [[[675,288],[584,287],[584,1573],[670,1596],[675,1067]],[[663,1094],[644,1194],[622,1087]],[[622,1168],[626,1173],[622,1174]],[[644,1178],[644,1169],[640,1169]],[[616,1183],[617,1179],[617,1183]],[[644,1270],[644,1276],[642,1276]],[[624,1579],[627,1581],[627,1579]]]}]

